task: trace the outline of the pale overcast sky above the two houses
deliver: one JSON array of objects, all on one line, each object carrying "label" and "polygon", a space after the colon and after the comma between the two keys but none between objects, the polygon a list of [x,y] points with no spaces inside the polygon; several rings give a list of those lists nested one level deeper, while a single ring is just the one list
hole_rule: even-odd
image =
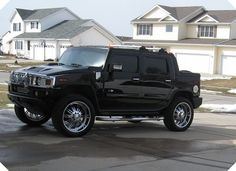
[{"label": "pale overcast sky above the two houses", "polygon": [[15,8],[67,7],[83,19],[94,19],[117,36],[132,36],[130,21],[155,5],[236,9],[236,0],[0,0],[0,37],[9,30]]}]

